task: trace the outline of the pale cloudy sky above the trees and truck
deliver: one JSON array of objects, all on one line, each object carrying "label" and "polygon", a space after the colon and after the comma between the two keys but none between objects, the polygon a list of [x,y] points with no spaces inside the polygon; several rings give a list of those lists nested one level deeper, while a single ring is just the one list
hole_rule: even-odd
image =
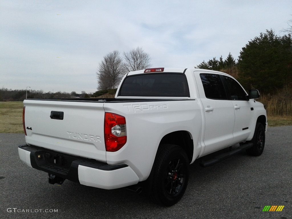
[{"label": "pale cloudy sky above the trees and truck", "polygon": [[0,1],[0,88],[94,93],[107,53],[142,47],[152,67],[238,58],[266,29],[284,35],[291,0]]}]

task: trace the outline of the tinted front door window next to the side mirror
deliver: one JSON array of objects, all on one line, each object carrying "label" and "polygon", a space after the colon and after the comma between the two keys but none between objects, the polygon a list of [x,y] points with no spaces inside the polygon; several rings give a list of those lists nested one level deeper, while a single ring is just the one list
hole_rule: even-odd
[{"label": "tinted front door window next to the side mirror", "polygon": [[230,100],[246,100],[246,93],[234,79],[224,76]]}]

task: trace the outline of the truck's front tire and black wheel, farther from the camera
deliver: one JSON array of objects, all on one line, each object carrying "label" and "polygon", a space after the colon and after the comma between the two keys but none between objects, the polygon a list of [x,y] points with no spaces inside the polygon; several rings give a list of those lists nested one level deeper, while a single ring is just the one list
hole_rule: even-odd
[{"label": "truck's front tire and black wheel, farther from the camera", "polygon": [[253,139],[250,141],[253,143],[251,148],[246,150],[248,155],[260,156],[263,153],[265,147],[265,128],[263,124],[257,123]]}]

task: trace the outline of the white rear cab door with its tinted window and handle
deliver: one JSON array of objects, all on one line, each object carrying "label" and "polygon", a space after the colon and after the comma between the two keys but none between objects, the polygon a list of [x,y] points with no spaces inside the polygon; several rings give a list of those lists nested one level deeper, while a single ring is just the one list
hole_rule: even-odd
[{"label": "white rear cab door with its tinted window and handle", "polygon": [[196,72],[195,77],[205,116],[204,156],[231,146],[235,115],[219,74]]}]

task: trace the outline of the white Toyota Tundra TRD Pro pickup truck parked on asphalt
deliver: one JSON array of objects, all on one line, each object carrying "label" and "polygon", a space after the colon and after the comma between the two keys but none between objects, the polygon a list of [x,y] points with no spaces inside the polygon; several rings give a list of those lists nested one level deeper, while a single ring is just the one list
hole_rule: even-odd
[{"label": "white Toyota Tundra TRD Pro pickup truck parked on asphalt", "polygon": [[68,179],[102,189],[143,189],[170,206],[183,196],[196,159],[238,143],[201,165],[241,150],[262,154],[267,115],[258,97],[222,72],[129,72],[115,98],[25,100],[26,144],[18,147],[19,157],[47,172],[51,184]]}]

